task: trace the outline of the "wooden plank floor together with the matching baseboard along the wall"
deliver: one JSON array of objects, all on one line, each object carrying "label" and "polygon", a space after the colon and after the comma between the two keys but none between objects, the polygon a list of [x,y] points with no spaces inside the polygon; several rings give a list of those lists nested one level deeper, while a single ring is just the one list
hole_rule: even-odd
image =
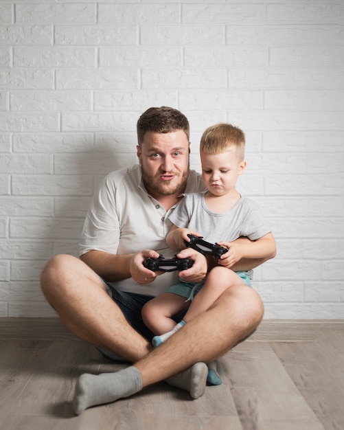
[{"label": "wooden plank floor together with the matching baseboard along the wall", "polygon": [[198,400],[159,383],[74,416],[76,378],[123,366],[58,319],[0,319],[0,430],[344,429],[344,321],[263,321]]}]

